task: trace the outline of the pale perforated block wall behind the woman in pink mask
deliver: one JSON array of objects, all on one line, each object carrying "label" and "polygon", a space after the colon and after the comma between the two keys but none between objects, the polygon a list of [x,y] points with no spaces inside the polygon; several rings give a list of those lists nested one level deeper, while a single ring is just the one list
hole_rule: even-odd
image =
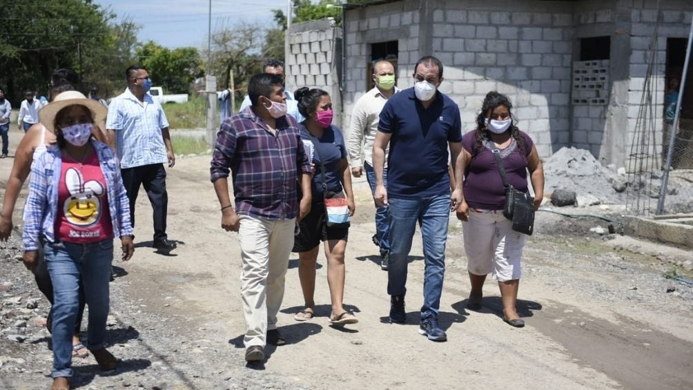
[{"label": "pale perforated block wall behind the woman in pink mask", "polygon": [[332,19],[292,25],[286,33],[286,89],[319,88],[332,98],[335,125],[342,125],[340,68],[342,29]]}]

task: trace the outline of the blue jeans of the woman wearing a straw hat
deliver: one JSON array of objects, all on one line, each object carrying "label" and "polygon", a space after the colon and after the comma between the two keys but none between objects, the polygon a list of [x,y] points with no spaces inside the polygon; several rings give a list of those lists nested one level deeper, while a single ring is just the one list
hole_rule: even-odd
[{"label": "blue jeans of the woman wearing a straw hat", "polygon": [[104,348],[109,308],[113,239],[90,244],[46,244],[46,265],[53,281],[53,372],[72,376],[72,335],[80,306],[80,280],[89,305],[87,348]]}]

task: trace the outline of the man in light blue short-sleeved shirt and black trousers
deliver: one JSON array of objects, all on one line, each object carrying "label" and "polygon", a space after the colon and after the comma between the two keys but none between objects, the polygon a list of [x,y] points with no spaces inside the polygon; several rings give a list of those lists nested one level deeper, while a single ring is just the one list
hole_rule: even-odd
[{"label": "man in light blue short-sleeved shirt and black trousers", "polygon": [[168,132],[164,109],[154,100],[149,89],[152,80],[147,69],[133,65],[125,71],[128,89],[111,100],[106,128],[115,136],[121,161],[123,184],[130,199],[130,220],[134,227],[134,205],[140,186],[147,191],[154,210],[154,244],[163,251],[176,247],[166,235],[166,169],[175,164],[175,154]]}]

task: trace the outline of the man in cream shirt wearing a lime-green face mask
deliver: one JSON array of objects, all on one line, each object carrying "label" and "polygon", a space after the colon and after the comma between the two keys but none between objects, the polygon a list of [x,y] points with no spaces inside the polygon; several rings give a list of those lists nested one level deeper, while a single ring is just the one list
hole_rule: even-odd
[{"label": "man in cream shirt wearing a lime-green face mask", "polygon": [[[373,141],[378,132],[380,111],[387,99],[399,91],[394,86],[394,67],[386,60],[380,60],[373,66],[373,81],[376,87],[356,100],[351,113],[351,125],[347,136],[347,150],[351,160],[351,174],[361,177],[365,168],[366,179],[371,186],[371,193],[376,190],[376,177],[373,170]],[[362,164],[363,162],[363,164]],[[383,169],[383,181],[387,180],[387,155]],[[376,204],[376,234],[373,242],[380,247],[380,267],[387,270],[389,253],[389,234],[387,224],[387,206]]]}]

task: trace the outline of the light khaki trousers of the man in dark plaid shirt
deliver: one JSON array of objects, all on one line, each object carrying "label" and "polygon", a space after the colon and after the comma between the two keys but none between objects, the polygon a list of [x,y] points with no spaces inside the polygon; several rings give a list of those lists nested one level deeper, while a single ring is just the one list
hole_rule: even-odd
[{"label": "light khaki trousers of the man in dark plaid shirt", "polygon": [[277,328],[295,223],[293,218],[265,220],[240,215],[240,296],[245,314],[245,348],[264,347],[267,330]]}]

